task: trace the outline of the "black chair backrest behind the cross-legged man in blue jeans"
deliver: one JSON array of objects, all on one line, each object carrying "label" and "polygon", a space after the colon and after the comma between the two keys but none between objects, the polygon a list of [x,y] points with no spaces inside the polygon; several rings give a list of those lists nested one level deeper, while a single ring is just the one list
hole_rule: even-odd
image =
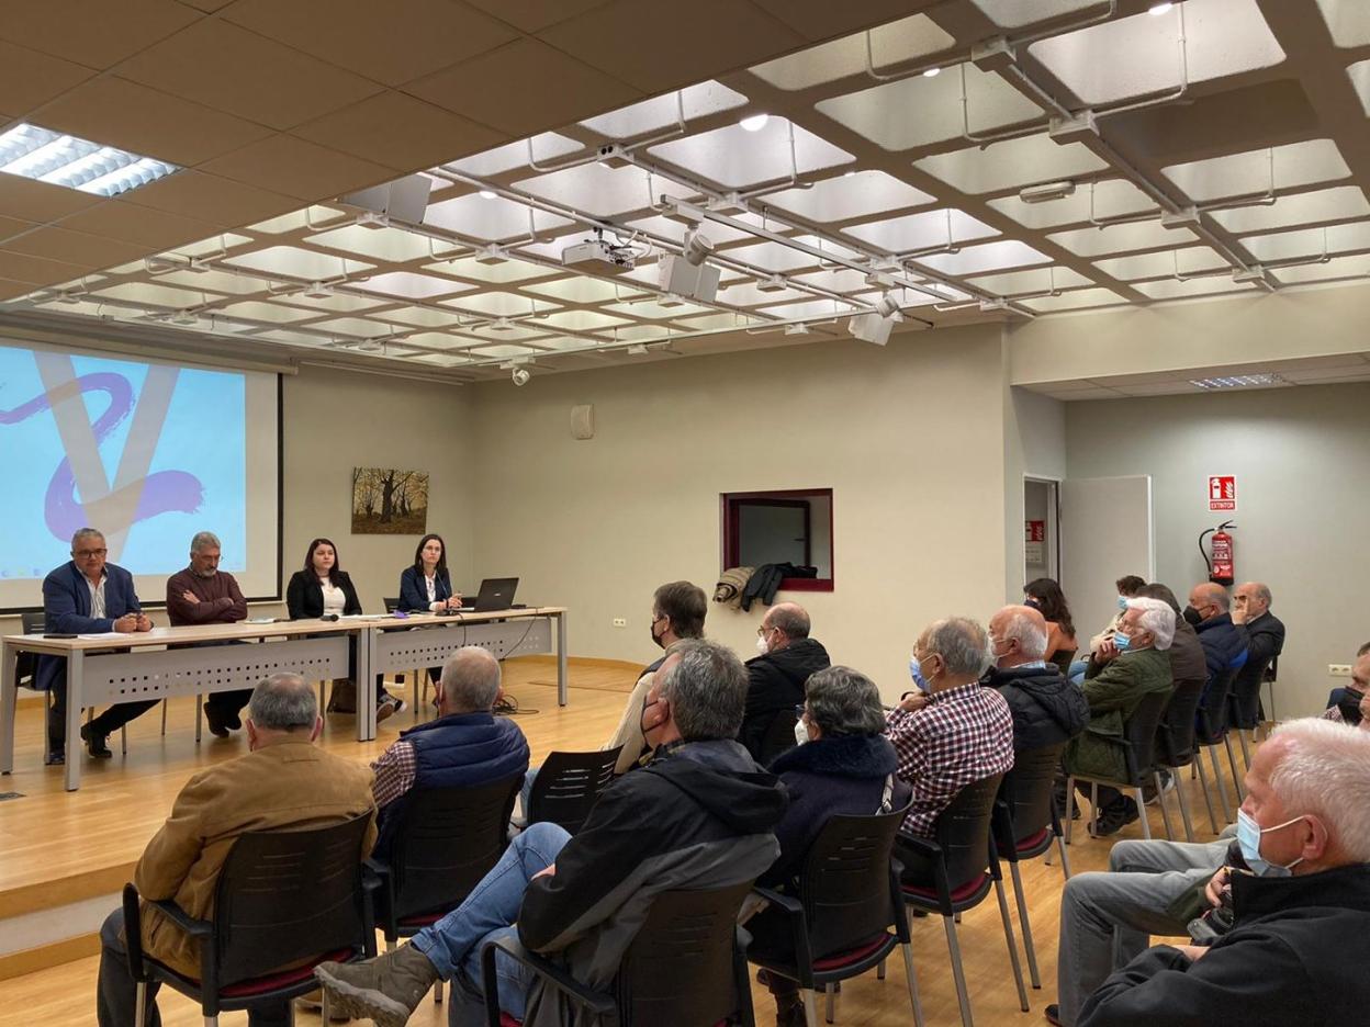
[{"label": "black chair backrest behind the cross-legged man in blue jeans", "polygon": [[[752,882],[663,891],[619,965],[615,994],[625,1027],[701,1027],[732,1017],[738,994],[737,911]],[[745,982],[745,969],[743,971]]]}]

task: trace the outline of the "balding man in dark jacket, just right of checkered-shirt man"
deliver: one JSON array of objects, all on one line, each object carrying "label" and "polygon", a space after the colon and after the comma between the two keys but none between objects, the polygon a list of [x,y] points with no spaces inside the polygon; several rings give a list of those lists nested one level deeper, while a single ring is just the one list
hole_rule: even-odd
[{"label": "balding man in dark jacket, just right of checkered-shirt man", "polygon": [[999,692],[1014,718],[1014,750],[1060,745],[1089,723],[1080,689],[1044,660],[1047,622],[1032,607],[1004,607],[989,619],[995,665],[984,683]]}]

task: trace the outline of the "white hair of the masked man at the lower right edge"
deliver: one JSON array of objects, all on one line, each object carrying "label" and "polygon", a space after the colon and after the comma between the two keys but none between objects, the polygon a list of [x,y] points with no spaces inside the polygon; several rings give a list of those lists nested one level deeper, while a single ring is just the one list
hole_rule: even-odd
[{"label": "white hair of the masked man at the lower right edge", "polygon": [[1312,813],[1352,863],[1370,863],[1370,733],[1322,718],[1285,720],[1271,738],[1288,742],[1270,789],[1288,816]]}]

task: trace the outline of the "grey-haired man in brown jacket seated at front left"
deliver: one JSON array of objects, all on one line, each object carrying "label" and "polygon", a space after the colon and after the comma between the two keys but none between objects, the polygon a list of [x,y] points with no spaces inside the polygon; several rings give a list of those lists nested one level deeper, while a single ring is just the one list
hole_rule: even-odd
[{"label": "grey-haired man in brown jacket seated at front left", "polygon": [[[371,771],[323,752],[314,741],[323,722],[314,689],[295,674],[273,674],[248,704],[251,753],[196,774],[171,816],[148,842],[133,872],[144,900],[171,898],[193,917],[214,915],[214,890],[240,834],[281,827],[325,827],[367,813],[364,852],[375,842]],[[132,1027],[137,985],[129,975],[123,911],[100,928],[100,1027]],[[142,949],[179,974],[200,976],[200,949],[153,906],[142,906]],[[147,1027],[159,1027],[156,986],[148,987]],[[290,1023],[288,1002],[248,1013],[252,1027]]]}]

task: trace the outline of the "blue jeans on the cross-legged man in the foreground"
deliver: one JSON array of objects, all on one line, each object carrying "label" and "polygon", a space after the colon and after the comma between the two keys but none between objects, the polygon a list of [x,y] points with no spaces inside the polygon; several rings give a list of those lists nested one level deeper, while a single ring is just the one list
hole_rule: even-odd
[{"label": "blue jeans on the cross-legged man in the foreground", "polygon": [[[530,826],[510,842],[500,861],[462,905],[414,935],[411,945],[427,956],[437,972],[453,985],[452,1006],[448,1011],[451,1027],[485,1023],[481,949],[489,941],[518,937],[514,923],[523,905],[527,883],[534,874],[556,863],[558,853],[570,838],[556,824]],[[532,972],[503,956],[496,960],[495,968],[500,1008],[522,1020]],[[458,994],[458,989],[464,994]]]}]

